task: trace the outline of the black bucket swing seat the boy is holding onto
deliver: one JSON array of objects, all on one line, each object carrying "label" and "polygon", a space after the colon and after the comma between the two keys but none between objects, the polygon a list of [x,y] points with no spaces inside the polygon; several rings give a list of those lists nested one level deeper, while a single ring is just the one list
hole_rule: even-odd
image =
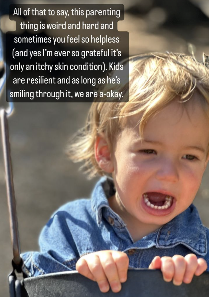
[{"label": "black bucket swing seat the boy is holding onto", "polygon": [[191,284],[175,286],[165,282],[159,270],[134,269],[119,293],[101,293],[93,282],[77,271],[45,274],[15,279],[9,276],[10,297],[208,297],[209,272],[193,278]]}]

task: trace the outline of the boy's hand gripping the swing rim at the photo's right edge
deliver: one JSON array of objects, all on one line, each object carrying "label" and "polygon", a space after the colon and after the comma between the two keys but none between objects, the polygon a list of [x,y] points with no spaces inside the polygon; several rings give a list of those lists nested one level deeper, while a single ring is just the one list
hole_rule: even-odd
[{"label": "boy's hand gripping the swing rim at the photo's right edge", "polygon": [[207,269],[207,263],[194,254],[185,257],[175,255],[173,257],[156,256],[152,260],[150,269],[161,269],[166,282],[173,280],[173,284],[179,286],[184,282],[189,284],[194,275],[199,276]]}]

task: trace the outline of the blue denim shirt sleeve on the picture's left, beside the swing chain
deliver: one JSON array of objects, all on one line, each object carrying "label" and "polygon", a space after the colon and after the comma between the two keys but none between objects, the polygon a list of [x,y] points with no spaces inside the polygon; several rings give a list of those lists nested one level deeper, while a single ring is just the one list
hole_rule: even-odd
[{"label": "blue denim shirt sleeve on the picture's left, beside the swing chain", "polygon": [[21,254],[23,271],[31,276],[76,270],[79,253],[70,232],[68,213],[58,210],[43,228],[40,252]]}]

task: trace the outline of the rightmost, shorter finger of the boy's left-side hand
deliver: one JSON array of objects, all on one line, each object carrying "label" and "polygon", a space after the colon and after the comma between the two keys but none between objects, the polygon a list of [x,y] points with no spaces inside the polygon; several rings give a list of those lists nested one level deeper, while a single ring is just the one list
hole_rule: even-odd
[{"label": "rightmost, shorter finger of the boy's left-side hand", "polygon": [[118,276],[120,282],[125,282],[127,280],[127,272],[128,272],[128,264],[129,259],[128,256],[123,252],[112,252],[112,257],[117,267]]}]

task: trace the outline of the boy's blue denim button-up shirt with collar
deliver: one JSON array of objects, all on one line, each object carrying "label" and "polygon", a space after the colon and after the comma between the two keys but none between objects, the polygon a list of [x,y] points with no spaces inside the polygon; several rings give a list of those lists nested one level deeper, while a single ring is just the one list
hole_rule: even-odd
[{"label": "boy's blue denim button-up shirt with collar", "polygon": [[75,270],[81,256],[106,249],[125,252],[130,268],[148,268],[156,255],[189,253],[203,257],[209,267],[209,229],[202,225],[194,205],[134,242],[123,220],[109,206],[108,198],[114,193],[112,179],[103,177],[91,199],[60,207],[40,234],[40,252],[21,255],[23,270],[29,276]]}]

